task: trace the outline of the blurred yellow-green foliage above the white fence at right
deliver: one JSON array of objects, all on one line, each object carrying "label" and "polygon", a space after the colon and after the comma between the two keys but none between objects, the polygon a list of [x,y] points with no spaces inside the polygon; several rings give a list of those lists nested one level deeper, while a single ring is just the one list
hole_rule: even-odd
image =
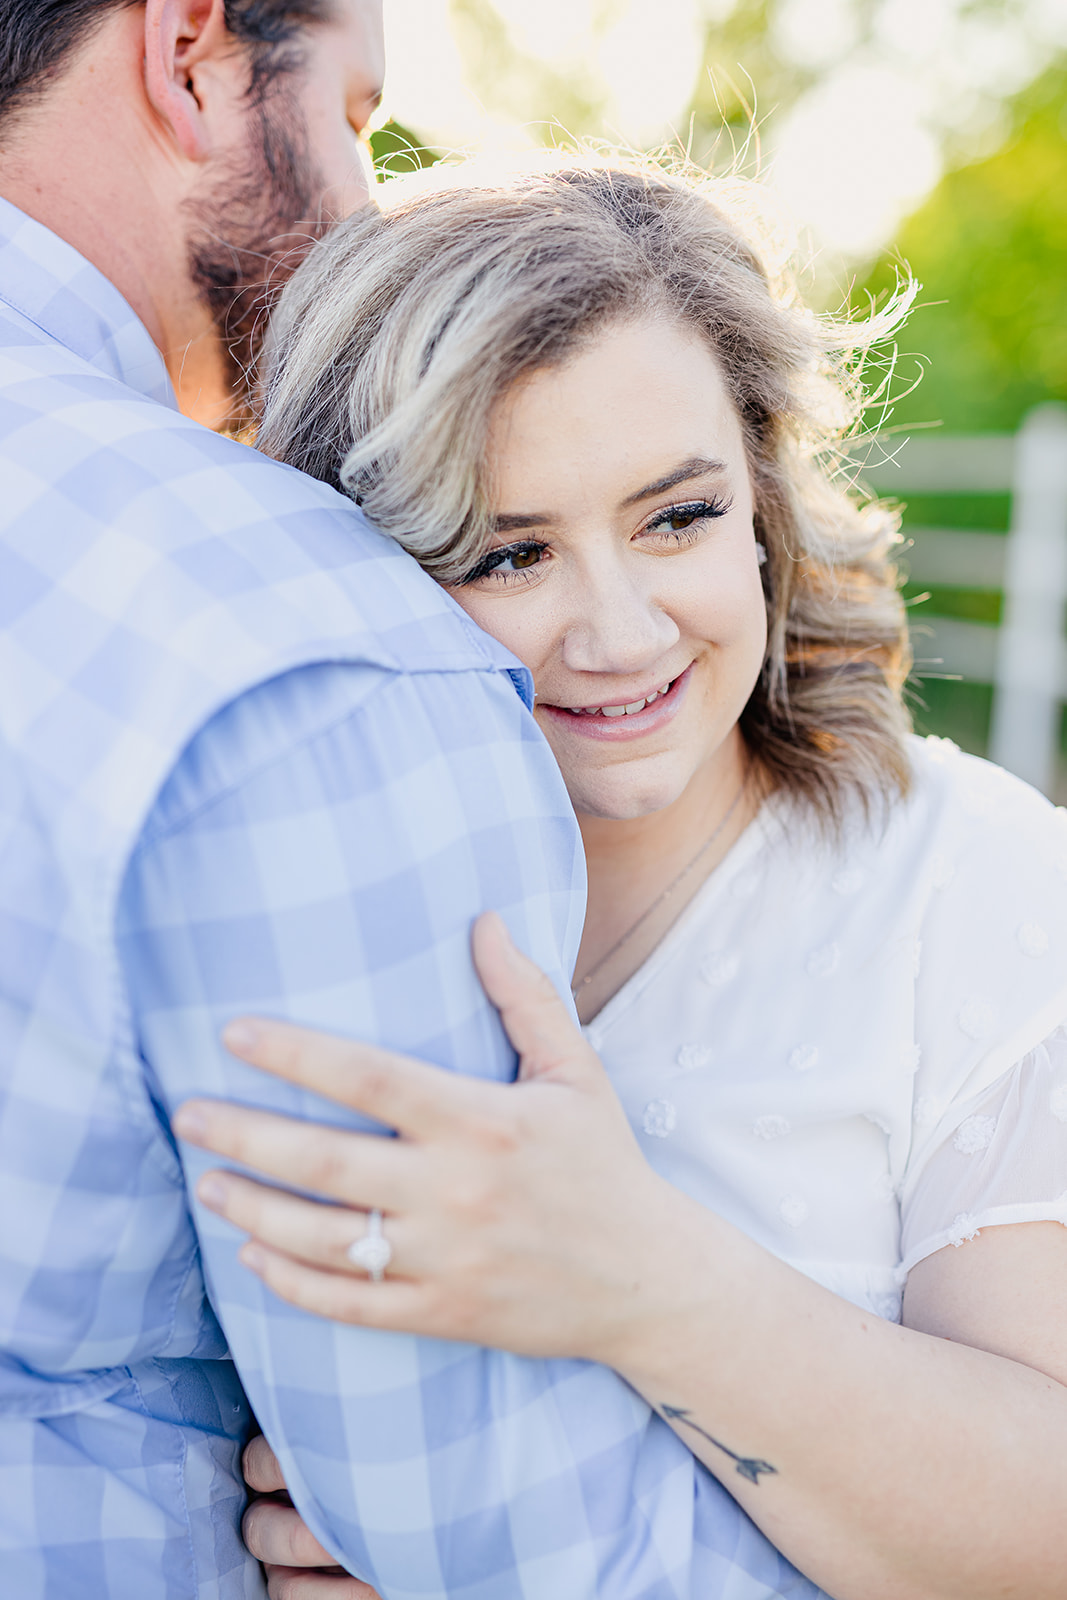
[{"label": "blurred yellow-green foliage above the white fence at right", "polygon": [[[885,293],[899,261],[923,283],[899,376],[926,365],[893,422],[1009,430],[1041,400],[1067,400],[1067,67],[1013,107],[995,155],[949,173],[861,290]],[[862,294],[853,296],[862,304]]]}]

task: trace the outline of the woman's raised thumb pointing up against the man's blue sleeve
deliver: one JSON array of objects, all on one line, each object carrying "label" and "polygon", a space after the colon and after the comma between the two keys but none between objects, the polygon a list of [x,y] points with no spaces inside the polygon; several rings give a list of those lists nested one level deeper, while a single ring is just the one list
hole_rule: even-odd
[{"label": "woman's raised thumb pointing up against the man's blue sleeve", "polygon": [[504,918],[485,912],[472,931],[474,963],[518,1051],[523,1078],[577,1083],[603,1077],[552,979],[515,947]]}]

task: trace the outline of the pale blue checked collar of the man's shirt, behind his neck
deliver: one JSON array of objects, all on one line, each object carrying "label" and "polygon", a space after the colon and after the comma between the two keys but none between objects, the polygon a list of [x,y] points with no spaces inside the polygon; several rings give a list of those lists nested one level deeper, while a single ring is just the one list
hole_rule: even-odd
[{"label": "pale blue checked collar of the man's shirt, behind his neck", "polygon": [[3,198],[0,301],[109,378],[176,406],[163,357],[115,285],[74,245]]}]

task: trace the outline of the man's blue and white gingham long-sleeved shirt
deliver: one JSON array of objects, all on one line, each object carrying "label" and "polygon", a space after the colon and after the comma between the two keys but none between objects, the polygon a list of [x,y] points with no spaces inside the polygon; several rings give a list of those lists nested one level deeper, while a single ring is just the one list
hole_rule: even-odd
[{"label": "man's blue and white gingham long-sleeved shirt", "polygon": [[302,1315],[190,1202],[189,1094],[344,1120],[237,1011],[514,1072],[470,920],[563,987],[582,914],[522,670],[5,202],[0,474],[0,1594],[262,1595],[251,1402],[387,1600],[811,1600],[613,1373]]}]

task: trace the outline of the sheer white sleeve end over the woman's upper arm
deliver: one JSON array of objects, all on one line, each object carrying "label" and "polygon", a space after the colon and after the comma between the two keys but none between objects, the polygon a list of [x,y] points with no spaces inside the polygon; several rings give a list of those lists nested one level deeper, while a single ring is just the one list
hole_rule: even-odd
[{"label": "sheer white sleeve end over the woman's upper arm", "polygon": [[901,1274],[1005,1222],[1067,1226],[1067,1026],[960,1107],[902,1206]]}]

